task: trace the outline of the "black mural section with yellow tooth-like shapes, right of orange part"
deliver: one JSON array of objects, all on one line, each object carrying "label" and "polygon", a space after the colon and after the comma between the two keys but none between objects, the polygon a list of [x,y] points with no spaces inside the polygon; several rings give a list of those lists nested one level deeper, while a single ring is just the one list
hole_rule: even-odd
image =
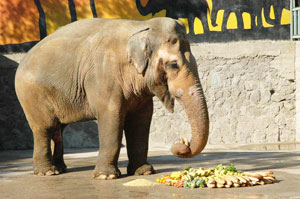
[{"label": "black mural section with yellow tooth-like shapes, right of orange part", "polygon": [[[144,4],[142,4],[144,2]],[[179,18],[194,42],[289,39],[289,0],[136,0],[142,15]]]}]

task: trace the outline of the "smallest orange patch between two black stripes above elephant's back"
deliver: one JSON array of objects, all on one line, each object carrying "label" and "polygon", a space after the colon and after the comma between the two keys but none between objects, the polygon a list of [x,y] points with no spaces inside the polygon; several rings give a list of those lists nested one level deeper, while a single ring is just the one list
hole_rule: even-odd
[{"label": "smallest orange patch between two black stripes above elephant's back", "polygon": [[93,18],[90,0],[73,0],[76,8],[77,20]]}]

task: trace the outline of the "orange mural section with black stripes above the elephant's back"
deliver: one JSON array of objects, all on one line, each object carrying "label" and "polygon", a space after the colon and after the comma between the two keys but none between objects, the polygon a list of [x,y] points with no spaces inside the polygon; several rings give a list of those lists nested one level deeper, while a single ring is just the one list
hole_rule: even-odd
[{"label": "orange mural section with black stripes above the elephant's back", "polygon": [[[0,0],[0,52],[28,51],[59,27],[85,18],[150,19],[134,0]],[[155,15],[165,16],[164,11]]]}]

